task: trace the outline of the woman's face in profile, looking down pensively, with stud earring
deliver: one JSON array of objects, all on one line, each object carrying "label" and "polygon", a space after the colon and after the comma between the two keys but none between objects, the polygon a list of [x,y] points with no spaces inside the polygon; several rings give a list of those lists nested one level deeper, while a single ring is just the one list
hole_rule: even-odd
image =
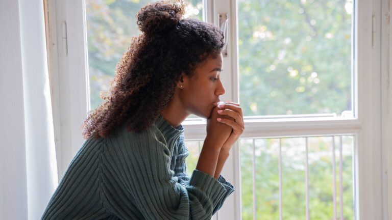
[{"label": "woman's face in profile, looking down pensively, with stud earring", "polygon": [[192,77],[183,77],[183,89],[179,96],[183,107],[188,114],[209,118],[214,103],[219,101],[219,96],[225,93],[220,72],[223,70],[222,53],[216,58],[208,57],[199,67],[194,70]]}]

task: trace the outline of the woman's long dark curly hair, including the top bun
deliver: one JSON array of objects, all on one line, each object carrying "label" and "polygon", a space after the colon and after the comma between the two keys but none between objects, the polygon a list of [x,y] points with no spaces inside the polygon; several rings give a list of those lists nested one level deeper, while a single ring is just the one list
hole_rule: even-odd
[{"label": "woman's long dark curly hair, including the top bun", "polygon": [[[178,1],[177,1],[178,2]],[[148,129],[173,98],[181,75],[224,47],[223,33],[197,19],[182,19],[182,2],[157,2],[136,15],[140,34],[116,65],[110,93],[82,125],[87,139],[107,137],[125,123],[128,131]]]}]

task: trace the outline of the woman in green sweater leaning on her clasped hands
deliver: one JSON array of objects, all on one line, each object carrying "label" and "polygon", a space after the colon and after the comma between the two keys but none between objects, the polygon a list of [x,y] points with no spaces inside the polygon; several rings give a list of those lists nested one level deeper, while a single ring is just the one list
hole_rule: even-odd
[{"label": "woman in green sweater leaning on her clasped hands", "polygon": [[[216,106],[223,35],[183,13],[165,2],[139,11],[143,34],[86,119],[87,140],[42,219],[210,219],[233,193],[220,172],[244,124],[239,104]],[[188,177],[181,123],[190,114],[207,119],[207,136]]]}]

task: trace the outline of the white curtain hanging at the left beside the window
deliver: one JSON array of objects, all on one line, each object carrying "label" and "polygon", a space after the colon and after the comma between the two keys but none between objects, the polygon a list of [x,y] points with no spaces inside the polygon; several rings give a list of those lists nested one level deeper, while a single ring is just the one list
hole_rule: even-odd
[{"label": "white curtain hanging at the left beside the window", "polygon": [[40,219],[58,184],[42,0],[0,1],[0,219]]}]

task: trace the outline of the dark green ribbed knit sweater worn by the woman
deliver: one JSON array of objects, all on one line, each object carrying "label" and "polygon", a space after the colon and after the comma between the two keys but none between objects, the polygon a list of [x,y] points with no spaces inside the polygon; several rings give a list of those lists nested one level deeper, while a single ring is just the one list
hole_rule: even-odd
[{"label": "dark green ribbed knit sweater worn by the woman", "polygon": [[235,188],[199,170],[188,177],[183,131],[159,116],[142,132],[90,137],[41,219],[210,219]]}]

